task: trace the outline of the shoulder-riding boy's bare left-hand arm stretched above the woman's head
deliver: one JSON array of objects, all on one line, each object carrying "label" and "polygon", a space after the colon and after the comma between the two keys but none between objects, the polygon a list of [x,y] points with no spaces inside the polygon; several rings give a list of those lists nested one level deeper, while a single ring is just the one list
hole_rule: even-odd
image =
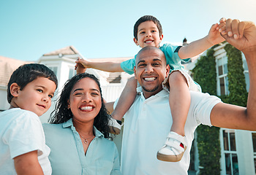
[{"label": "shoulder-riding boy's bare left-hand arm stretched above the woman's head", "polygon": [[[121,72],[124,71],[121,69],[120,63],[116,62],[96,62],[96,61],[88,61],[84,59],[78,58],[77,61],[75,61],[77,65],[75,66],[77,68],[78,63],[83,65],[85,69],[92,68],[92,69],[98,69],[101,71],[108,71],[108,72]],[[82,72],[79,72],[82,73]]]}]

